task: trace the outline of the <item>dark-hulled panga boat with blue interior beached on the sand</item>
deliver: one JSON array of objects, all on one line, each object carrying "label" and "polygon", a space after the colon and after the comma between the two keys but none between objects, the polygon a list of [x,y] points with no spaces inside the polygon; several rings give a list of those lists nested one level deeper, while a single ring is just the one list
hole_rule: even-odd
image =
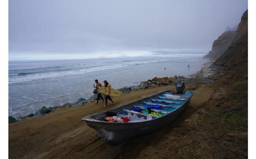
[{"label": "dark-hulled panga boat with blue interior beached on the sand", "polygon": [[[108,144],[115,146],[127,138],[155,131],[172,122],[188,106],[193,93],[194,91],[186,91],[175,94],[174,90],[166,90],[111,109],[111,113],[116,112],[114,116],[130,117],[128,122],[106,121],[109,111],[91,114],[82,118],[82,121],[94,128]],[[145,110],[147,107],[149,112]]]}]

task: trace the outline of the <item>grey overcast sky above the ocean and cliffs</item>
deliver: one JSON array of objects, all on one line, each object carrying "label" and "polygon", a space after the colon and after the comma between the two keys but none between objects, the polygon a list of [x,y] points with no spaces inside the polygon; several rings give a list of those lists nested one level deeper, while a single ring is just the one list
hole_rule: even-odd
[{"label": "grey overcast sky above the ocean and cliffs", "polygon": [[9,0],[9,59],[207,54],[246,0]]}]

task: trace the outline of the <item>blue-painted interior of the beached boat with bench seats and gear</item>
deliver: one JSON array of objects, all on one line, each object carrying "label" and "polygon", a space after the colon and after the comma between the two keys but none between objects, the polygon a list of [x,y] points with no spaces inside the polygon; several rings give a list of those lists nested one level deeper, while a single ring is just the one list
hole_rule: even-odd
[{"label": "blue-painted interior of the beached boat with bench seats and gear", "polygon": [[[143,122],[153,120],[172,113],[182,106],[193,94],[191,91],[186,91],[183,94],[175,94],[174,90],[152,95],[142,100],[137,100],[114,109],[116,116],[120,118],[129,118],[128,123]],[[91,114],[88,116],[91,119],[106,121],[107,111]]]}]

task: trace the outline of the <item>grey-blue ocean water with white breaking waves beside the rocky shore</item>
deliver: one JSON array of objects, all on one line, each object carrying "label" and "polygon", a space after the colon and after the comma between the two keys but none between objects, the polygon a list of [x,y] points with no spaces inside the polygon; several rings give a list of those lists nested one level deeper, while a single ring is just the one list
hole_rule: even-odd
[{"label": "grey-blue ocean water with white breaking waves beside the rocky shore", "polygon": [[[155,76],[188,76],[209,60],[203,55],[169,58],[9,62],[10,116],[34,113],[42,106],[60,106],[93,95],[94,80],[113,88],[139,85]],[[187,65],[190,65],[188,68]],[[164,69],[166,67],[166,70]]]}]

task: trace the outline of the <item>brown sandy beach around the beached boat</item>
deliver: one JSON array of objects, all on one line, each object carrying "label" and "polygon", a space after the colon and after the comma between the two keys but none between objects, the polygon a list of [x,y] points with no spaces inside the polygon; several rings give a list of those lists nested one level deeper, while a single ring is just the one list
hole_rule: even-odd
[{"label": "brown sandy beach around the beached boat", "polygon": [[[208,68],[208,72],[210,70]],[[227,89],[232,92],[239,82],[246,83],[247,80],[244,76],[242,79],[237,77],[239,81],[230,79],[227,74],[231,74],[231,70],[214,72],[219,76],[212,79],[214,82],[191,78],[185,83],[185,90],[195,91],[189,106],[175,121],[160,130],[110,146],[81,118],[175,89],[173,85],[124,93],[121,97],[113,97],[114,104],[107,108],[103,107],[104,103],[95,105],[92,102],[79,107],[58,108],[42,117],[9,124],[9,158],[216,158],[228,155],[232,147],[243,151],[242,146],[247,144],[246,130],[230,130],[209,123],[208,118],[210,110],[226,106],[227,102],[223,104],[223,101],[230,94],[223,93]],[[223,87],[226,80],[230,83]],[[237,137],[235,141],[234,137]]]}]

